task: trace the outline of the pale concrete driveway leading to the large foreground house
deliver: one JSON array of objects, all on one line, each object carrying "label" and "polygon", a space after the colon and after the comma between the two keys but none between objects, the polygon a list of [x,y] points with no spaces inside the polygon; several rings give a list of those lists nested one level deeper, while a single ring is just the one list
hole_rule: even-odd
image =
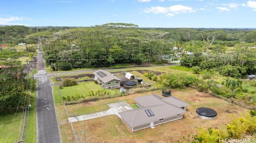
[{"label": "pale concrete driveway leading to the large foreground house", "polygon": [[120,118],[120,115],[118,114],[119,112],[133,109],[125,101],[111,103],[111,104],[108,104],[108,106],[110,107],[109,110],[102,111],[102,112],[96,112],[96,113],[92,113],[92,114],[87,114],[87,115],[82,115],[82,116],[70,117],[70,118],[68,118],[68,121],[70,123],[72,123],[72,122],[76,122],[76,121],[94,119],[94,118],[99,118],[99,117],[108,116],[108,115],[117,115]]}]

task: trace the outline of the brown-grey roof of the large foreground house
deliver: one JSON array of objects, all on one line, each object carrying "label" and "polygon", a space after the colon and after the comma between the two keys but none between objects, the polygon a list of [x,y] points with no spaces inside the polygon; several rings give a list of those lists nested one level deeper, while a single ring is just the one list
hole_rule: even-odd
[{"label": "brown-grey roof of the large foreground house", "polygon": [[[183,114],[186,111],[178,106],[189,105],[188,103],[183,102],[178,98],[173,98],[173,96],[166,97],[167,102],[163,99],[165,98],[161,98],[156,94],[137,97],[134,98],[134,100],[141,104],[143,107],[120,112],[118,114],[120,114],[122,119],[126,121],[126,123],[128,123],[130,126],[136,127],[139,125],[150,123],[151,121],[158,121],[159,119],[169,118],[177,116],[178,114]],[[172,105],[168,102],[178,102],[176,104],[178,106]],[[147,109],[151,109],[152,112],[154,113],[154,116],[149,117],[145,112],[145,110]]]}]

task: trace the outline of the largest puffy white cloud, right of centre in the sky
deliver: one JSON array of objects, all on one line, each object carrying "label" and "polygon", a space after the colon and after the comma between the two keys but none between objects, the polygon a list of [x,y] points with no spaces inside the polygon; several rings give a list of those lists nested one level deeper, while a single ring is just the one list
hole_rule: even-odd
[{"label": "largest puffy white cloud, right of centre in the sky", "polygon": [[155,6],[151,8],[146,8],[144,12],[154,13],[154,14],[164,14],[165,16],[170,17],[170,16],[174,16],[174,14],[195,12],[195,10],[193,10],[188,6],[174,5],[170,7]]}]

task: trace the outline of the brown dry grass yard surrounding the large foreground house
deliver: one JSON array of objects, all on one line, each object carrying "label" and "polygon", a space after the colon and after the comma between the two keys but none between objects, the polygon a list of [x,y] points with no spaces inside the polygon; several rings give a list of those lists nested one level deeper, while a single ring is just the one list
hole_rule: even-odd
[{"label": "brown dry grass yard surrounding the large foreground house", "polygon": [[[158,90],[154,92],[132,94],[129,96],[122,96],[96,102],[89,102],[72,106],[70,105],[68,106],[68,111],[72,113],[79,109],[83,110],[84,112],[88,112],[87,110],[94,109],[94,112],[98,112],[108,109],[107,104],[109,103],[126,101],[128,104],[134,104],[134,100],[132,99],[133,97],[144,96],[148,94],[160,95],[160,93],[161,91]],[[84,140],[86,138],[88,143],[176,143],[177,140],[183,141],[183,136],[187,137],[190,133],[196,133],[195,129],[197,127],[224,127],[224,124],[230,121],[230,114],[227,113],[226,110],[234,112],[234,114],[238,115],[248,111],[240,106],[230,104],[224,100],[204,92],[198,92],[192,88],[186,88],[182,90],[173,89],[172,95],[190,104],[190,106],[187,108],[187,113],[184,114],[183,119],[157,125],[154,129],[147,128],[131,132],[130,129],[128,129],[128,127],[126,127],[126,125],[121,121],[121,119],[118,118],[118,116],[110,115],[102,118],[86,120],[84,122],[79,121],[73,123],[76,135],[80,140],[82,137],[82,126],[84,126],[84,128],[86,128],[85,132],[87,135],[83,135],[83,138]],[[218,118],[214,120],[193,118],[193,114],[195,114],[195,110],[198,107],[208,107],[216,110],[218,113]],[[61,112],[61,114],[64,114],[64,112]],[[66,116],[61,114],[58,116]],[[73,143],[75,140],[71,131],[70,123],[67,122],[67,119],[61,119],[62,120],[59,122],[63,142]],[[116,126],[118,126],[124,133],[121,134]]]}]

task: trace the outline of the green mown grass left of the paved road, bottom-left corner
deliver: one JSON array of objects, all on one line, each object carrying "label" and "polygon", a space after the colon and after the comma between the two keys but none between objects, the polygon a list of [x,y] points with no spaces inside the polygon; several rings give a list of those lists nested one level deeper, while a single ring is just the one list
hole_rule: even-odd
[{"label": "green mown grass left of the paved road, bottom-left corner", "polygon": [[[36,92],[32,94],[31,111],[28,114],[27,129],[24,132],[26,143],[36,143]],[[20,141],[22,112],[0,117],[0,143]],[[7,139],[7,140],[6,140]]]}]

